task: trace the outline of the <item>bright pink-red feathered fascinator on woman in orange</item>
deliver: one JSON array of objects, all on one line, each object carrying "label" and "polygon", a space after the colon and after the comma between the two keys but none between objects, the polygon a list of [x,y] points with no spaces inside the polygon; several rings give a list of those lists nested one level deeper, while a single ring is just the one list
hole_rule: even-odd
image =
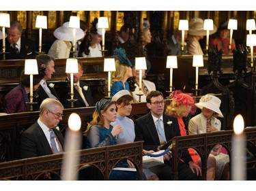
[{"label": "bright pink-red feathered fascinator on woman in orange", "polygon": [[191,105],[190,114],[195,114],[197,107],[195,107],[195,99],[193,94],[183,93],[181,90],[175,90],[170,93],[171,101],[175,101],[177,105]]}]

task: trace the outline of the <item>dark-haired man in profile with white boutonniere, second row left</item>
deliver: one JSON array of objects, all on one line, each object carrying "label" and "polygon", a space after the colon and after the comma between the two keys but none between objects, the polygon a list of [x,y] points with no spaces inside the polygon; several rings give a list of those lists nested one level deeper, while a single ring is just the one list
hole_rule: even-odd
[{"label": "dark-haired man in profile with white boutonniere, second row left", "polygon": [[39,54],[35,59],[38,61],[38,73],[44,74],[44,78],[41,80],[38,88],[38,104],[41,105],[42,101],[48,97],[59,100],[54,84],[47,83],[48,80],[51,80],[53,73],[55,73],[55,59],[47,54]]}]

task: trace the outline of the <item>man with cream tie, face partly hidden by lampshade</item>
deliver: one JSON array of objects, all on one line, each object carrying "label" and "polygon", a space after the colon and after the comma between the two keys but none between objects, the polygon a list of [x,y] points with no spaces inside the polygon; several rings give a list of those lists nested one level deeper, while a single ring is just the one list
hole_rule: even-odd
[{"label": "man with cream tie, face partly hidden by lampshade", "polygon": [[[61,103],[65,108],[70,108],[71,103],[68,101],[70,99],[70,73],[67,73],[66,78],[67,88],[61,88],[59,92]],[[74,73],[74,107],[91,107],[95,106],[94,99],[91,96],[91,88],[89,84],[82,82],[80,78],[83,75],[83,65],[79,62],[79,73]]]}]

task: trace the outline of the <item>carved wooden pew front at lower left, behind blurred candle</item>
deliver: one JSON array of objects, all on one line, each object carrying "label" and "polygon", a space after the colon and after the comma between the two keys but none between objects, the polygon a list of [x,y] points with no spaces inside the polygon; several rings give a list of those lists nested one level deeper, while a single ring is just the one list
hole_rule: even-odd
[{"label": "carved wooden pew front at lower left, behind blurred candle", "polygon": [[[102,179],[109,174],[119,160],[129,159],[137,169],[138,179],[142,179],[143,141],[98,147],[79,151],[80,160],[77,173],[89,173],[88,166],[94,167]],[[0,179],[4,180],[47,180],[61,179],[61,165],[65,154],[51,154],[0,163]]]}]

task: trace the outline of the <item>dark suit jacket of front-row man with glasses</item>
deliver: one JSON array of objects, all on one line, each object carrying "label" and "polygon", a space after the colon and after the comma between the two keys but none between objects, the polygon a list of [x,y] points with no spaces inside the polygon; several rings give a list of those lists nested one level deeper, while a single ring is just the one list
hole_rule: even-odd
[{"label": "dark suit jacket of front-row man with glasses", "polygon": [[[177,123],[177,118],[172,116],[167,116],[162,114],[162,119],[165,126],[165,137],[167,141],[173,139],[173,137],[181,136],[180,127]],[[172,124],[167,124],[168,121],[171,121]],[[152,118],[151,112],[134,120],[135,128],[135,139],[134,141],[144,141],[143,148],[145,150],[154,150],[157,151],[160,141],[158,138],[158,133],[156,131],[156,126]],[[184,150],[182,153],[182,160],[188,164],[189,161],[193,161],[188,150]]]}]

